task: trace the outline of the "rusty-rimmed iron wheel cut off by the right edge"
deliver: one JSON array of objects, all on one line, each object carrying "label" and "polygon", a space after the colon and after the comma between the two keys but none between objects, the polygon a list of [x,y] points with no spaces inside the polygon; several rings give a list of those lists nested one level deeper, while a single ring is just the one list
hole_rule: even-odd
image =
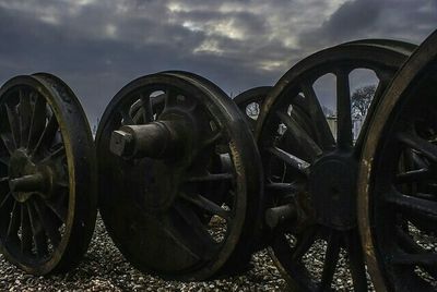
[{"label": "rusty-rimmed iron wheel cut off by the right edge", "polygon": [[437,32],[398,72],[369,125],[358,223],[378,291],[437,289]]}]

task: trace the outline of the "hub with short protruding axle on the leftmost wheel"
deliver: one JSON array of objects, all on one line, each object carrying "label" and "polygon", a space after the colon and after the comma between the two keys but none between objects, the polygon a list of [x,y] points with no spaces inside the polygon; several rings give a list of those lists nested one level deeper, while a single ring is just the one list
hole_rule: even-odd
[{"label": "hub with short protruding axle on the leftmost wheel", "polygon": [[24,149],[17,149],[11,155],[9,187],[20,203],[26,202],[33,194],[47,197],[50,193],[47,171],[34,163]]}]

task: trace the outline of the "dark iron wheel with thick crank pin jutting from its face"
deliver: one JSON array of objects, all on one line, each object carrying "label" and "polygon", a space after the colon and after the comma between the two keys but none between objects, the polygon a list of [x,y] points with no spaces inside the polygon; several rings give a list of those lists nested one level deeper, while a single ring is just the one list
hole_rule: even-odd
[{"label": "dark iron wheel with thick crank pin jutting from its face", "polygon": [[96,145],[102,218],[135,267],[203,280],[247,264],[262,224],[261,161],[218,87],[187,72],[140,77],[106,108]]}]

